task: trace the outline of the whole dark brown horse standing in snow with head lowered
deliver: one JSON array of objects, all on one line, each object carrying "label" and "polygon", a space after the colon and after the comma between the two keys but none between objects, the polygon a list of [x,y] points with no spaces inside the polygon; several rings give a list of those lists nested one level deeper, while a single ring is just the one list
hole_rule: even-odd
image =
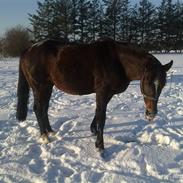
[{"label": "whole dark brown horse standing in snow with head lowered", "polygon": [[49,142],[53,130],[48,107],[53,86],[74,95],[96,93],[96,112],[90,129],[97,135],[96,147],[103,150],[106,108],[112,96],[124,92],[130,81],[140,80],[145,115],[153,120],[166,72],[172,64],[173,61],[162,65],[151,54],[112,40],[65,46],[53,40],[34,44],[20,58],[17,119],[26,119],[32,88],[41,137]]}]

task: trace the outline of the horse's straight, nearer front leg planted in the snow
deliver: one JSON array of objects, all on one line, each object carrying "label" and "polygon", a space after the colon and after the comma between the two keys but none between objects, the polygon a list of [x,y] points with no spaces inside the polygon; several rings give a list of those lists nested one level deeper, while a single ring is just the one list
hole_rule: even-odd
[{"label": "horse's straight, nearer front leg planted in the snow", "polygon": [[94,119],[96,122],[97,140],[95,142],[95,146],[99,148],[100,151],[104,149],[103,130],[105,126],[107,104],[111,97],[112,95],[109,94],[107,90],[101,90],[100,92],[96,93],[97,104]]}]

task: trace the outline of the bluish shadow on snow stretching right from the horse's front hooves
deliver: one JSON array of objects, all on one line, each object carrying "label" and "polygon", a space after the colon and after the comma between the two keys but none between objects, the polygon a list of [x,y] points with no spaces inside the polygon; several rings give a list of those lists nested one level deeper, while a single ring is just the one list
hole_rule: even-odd
[{"label": "bluish shadow on snow stretching right from the horse's front hooves", "polygon": [[[167,123],[164,119],[156,119],[154,122],[148,122],[145,120],[136,120],[132,122],[126,122],[126,123],[119,123],[119,124],[108,124],[106,125],[106,128],[109,128],[109,130],[105,133],[107,136],[114,136],[113,138],[117,141],[119,141],[118,144],[112,144],[109,147],[107,147],[103,154],[101,154],[102,158],[105,161],[112,160],[118,153],[125,150],[127,148],[127,144],[129,143],[135,143],[140,146],[147,145],[147,143],[143,143],[139,141],[139,136],[144,133],[153,133],[157,129],[160,129],[165,131],[165,133],[169,133],[169,135],[175,139],[176,141],[183,141],[183,137],[180,135],[177,135],[168,129],[180,129],[183,128],[183,117],[172,119],[171,123]],[[133,129],[131,129],[130,126],[133,126]],[[129,129],[123,129],[120,127],[129,127]],[[115,130],[116,128],[120,128],[120,130]],[[127,133],[127,135],[124,135]],[[128,135],[128,134],[132,135]],[[107,143],[107,139],[106,142]],[[153,144],[153,142],[149,142]],[[183,148],[183,145],[180,146],[180,148]],[[182,156],[183,157],[183,156]]]}]

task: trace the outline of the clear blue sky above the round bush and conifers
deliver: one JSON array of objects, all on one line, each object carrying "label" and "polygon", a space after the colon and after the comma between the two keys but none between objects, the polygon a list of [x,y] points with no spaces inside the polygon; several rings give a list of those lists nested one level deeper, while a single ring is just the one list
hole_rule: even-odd
[{"label": "clear blue sky above the round bush and conifers", "polygon": [[[0,36],[2,36],[7,29],[16,25],[31,28],[28,13],[34,14],[36,12],[37,1],[38,0],[0,0]],[[138,1],[139,0],[131,0],[131,3],[133,4]],[[183,0],[180,1],[182,2]],[[161,0],[150,0],[150,2],[157,5]]]}]

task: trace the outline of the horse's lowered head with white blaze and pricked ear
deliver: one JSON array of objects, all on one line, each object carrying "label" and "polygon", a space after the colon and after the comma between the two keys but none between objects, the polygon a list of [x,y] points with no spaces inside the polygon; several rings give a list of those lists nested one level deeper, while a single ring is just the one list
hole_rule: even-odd
[{"label": "horse's lowered head with white blaze and pricked ear", "polygon": [[146,119],[152,121],[157,114],[157,103],[163,87],[166,84],[166,72],[173,61],[168,64],[147,65],[141,79],[141,92],[144,97]]}]

